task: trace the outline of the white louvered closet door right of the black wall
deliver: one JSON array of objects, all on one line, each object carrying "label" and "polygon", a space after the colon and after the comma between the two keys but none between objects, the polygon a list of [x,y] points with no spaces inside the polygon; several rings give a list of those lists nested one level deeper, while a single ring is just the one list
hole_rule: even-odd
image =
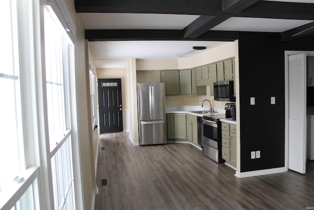
[{"label": "white louvered closet door right of the black wall", "polygon": [[305,174],[306,54],[288,56],[288,169]]}]

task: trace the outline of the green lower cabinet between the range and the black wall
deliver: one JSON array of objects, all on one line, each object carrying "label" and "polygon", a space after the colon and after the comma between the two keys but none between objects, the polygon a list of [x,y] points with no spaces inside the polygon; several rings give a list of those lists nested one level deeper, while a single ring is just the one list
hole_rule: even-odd
[{"label": "green lower cabinet between the range and the black wall", "polygon": [[236,125],[221,122],[222,159],[236,168]]}]

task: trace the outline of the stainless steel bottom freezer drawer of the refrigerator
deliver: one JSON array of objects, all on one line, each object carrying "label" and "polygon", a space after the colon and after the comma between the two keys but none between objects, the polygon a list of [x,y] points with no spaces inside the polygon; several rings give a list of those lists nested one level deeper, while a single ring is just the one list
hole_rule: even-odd
[{"label": "stainless steel bottom freezer drawer of the refrigerator", "polygon": [[139,144],[166,144],[166,120],[139,121]]}]

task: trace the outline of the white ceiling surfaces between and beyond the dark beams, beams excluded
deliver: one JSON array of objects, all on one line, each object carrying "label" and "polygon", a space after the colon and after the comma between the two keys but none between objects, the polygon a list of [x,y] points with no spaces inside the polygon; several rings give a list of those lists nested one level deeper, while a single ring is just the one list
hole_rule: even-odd
[{"label": "white ceiling surfaces between and beyond the dark beams, beams excluded", "polygon": [[[272,0],[314,3],[314,0]],[[174,29],[182,30],[199,16],[171,14],[80,13],[83,26],[91,29]],[[283,32],[313,21],[232,17],[212,30]],[[89,42],[97,68],[121,67],[127,59],[177,59],[177,54],[193,46],[207,50],[226,42],[207,41],[101,41]]]}]

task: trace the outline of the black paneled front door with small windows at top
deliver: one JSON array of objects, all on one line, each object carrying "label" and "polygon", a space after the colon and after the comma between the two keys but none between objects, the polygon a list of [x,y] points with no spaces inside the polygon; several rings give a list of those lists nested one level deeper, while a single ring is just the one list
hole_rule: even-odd
[{"label": "black paneled front door with small windows at top", "polygon": [[121,79],[98,79],[100,133],[123,131]]}]

